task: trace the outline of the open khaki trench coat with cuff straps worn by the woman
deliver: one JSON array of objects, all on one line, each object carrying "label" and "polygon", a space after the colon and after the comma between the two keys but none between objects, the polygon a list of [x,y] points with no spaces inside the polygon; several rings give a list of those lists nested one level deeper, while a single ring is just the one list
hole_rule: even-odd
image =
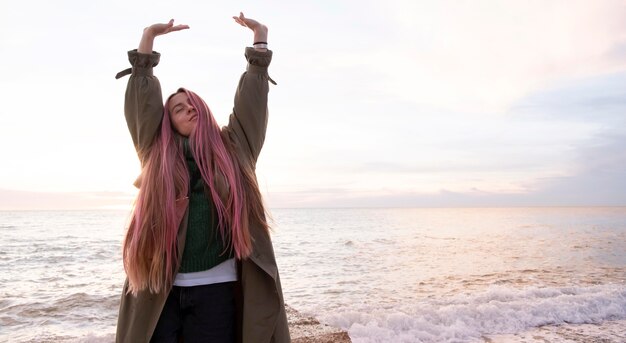
[{"label": "open khaki trench coat with cuff straps worn by the woman", "polygon": [[[140,160],[160,129],[163,117],[163,96],[153,67],[159,63],[160,54],[128,52],[132,74],[126,89],[124,112],[128,129]],[[233,113],[223,127],[235,146],[240,163],[253,168],[265,140],[267,128],[267,94],[269,91],[267,67],[272,51],[260,52],[246,48],[248,62],[235,93]],[[118,74],[128,74],[131,70]],[[135,182],[135,185],[139,185]],[[218,185],[220,188],[220,185]],[[177,204],[180,214],[178,230],[179,261],[185,246],[187,232],[188,199]],[[274,250],[269,234],[257,222],[250,223],[253,241],[251,256],[238,263],[240,294],[239,339],[244,343],[290,342],[283,294],[276,267]],[[124,284],[117,323],[117,342],[149,342],[167,299],[167,292],[153,294],[139,292],[127,294],[128,280]]]}]

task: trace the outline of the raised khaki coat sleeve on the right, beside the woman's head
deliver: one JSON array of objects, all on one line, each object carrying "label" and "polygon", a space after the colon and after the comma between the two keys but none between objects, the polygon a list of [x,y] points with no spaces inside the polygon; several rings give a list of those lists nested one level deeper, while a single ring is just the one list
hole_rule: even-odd
[{"label": "raised khaki coat sleeve on the right, beside the woman's head", "polygon": [[246,48],[248,66],[241,75],[235,92],[235,105],[228,121],[228,130],[236,136],[244,151],[256,161],[267,129],[267,94],[269,92],[267,67],[272,61],[272,51]]}]

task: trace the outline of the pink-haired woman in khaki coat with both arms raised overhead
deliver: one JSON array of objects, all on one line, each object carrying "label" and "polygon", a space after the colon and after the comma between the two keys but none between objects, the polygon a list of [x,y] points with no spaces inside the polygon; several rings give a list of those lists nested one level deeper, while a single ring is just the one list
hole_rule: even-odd
[{"label": "pink-haired woman in khaki coat with both arms raised overhead", "polygon": [[267,124],[267,27],[254,32],[229,124],[195,93],[163,104],[154,38],[188,29],[154,24],[129,51],[124,111],[142,163],[124,241],[118,342],[289,342],[261,194],[254,173]]}]

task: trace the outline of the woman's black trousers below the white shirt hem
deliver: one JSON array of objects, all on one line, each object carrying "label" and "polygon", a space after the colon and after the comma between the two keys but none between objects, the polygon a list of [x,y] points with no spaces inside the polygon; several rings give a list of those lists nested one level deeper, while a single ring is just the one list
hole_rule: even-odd
[{"label": "woman's black trousers below the white shirt hem", "polygon": [[172,287],[150,342],[235,342],[235,282]]}]

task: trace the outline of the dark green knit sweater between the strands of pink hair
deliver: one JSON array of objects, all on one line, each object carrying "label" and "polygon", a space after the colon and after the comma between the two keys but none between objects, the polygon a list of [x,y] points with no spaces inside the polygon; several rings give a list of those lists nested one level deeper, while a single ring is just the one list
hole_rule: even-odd
[{"label": "dark green knit sweater between the strands of pink hair", "polygon": [[191,154],[188,139],[185,139],[184,146],[189,170],[189,221],[183,260],[178,272],[193,273],[211,269],[232,258],[233,254],[231,251],[224,252],[215,206]]}]

